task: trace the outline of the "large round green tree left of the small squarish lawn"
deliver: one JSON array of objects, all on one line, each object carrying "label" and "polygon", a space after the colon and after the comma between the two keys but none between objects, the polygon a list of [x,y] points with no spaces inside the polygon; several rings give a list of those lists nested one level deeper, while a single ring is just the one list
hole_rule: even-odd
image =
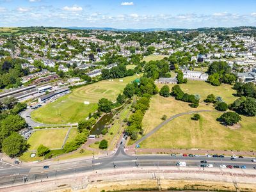
[{"label": "large round green tree left of the small squarish lawn", "polygon": [[27,148],[26,140],[17,132],[12,132],[2,143],[3,152],[10,157],[21,155]]}]

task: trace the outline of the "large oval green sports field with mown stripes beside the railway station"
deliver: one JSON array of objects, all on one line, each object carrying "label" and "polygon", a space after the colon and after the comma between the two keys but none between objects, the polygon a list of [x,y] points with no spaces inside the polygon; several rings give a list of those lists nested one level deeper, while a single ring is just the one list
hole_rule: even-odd
[{"label": "large oval green sports field with mown stripes beside the railway station", "polygon": [[[78,122],[86,118],[89,113],[97,110],[97,102],[102,97],[115,101],[117,95],[122,93],[127,83],[140,76],[106,80],[98,83],[88,84],[81,88],[72,90],[72,93],[60,99],[38,108],[31,113],[31,118],[36,122],[45,124],[67,124]],[[90,104],[84,104],[85,101]]]}]

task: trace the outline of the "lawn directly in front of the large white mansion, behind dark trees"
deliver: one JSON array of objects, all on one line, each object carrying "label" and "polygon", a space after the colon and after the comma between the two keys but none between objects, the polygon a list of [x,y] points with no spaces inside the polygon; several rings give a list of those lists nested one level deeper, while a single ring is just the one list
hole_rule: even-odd
[{"label": "lawn directly in front of the large white mansion, behind dark trees", "polygon": [[[175,84],[168,84],[168,86],[170,86],[170,90],[172,90],[172,87],[174,85]],[[211,84],[206,83],[205,81],[188,80],[188,83],[179,85],[184,93],[200,95],[200,101],[206,99],[207,95],[211,93],[215,96],[220,96],[228,104],[231,104],[232,102],[234,102],[234,100],[238,99],[238,97],[232,95],[236,93],[236,90],[233,90],[232,85],[230,84],[212,86]],[[164,84],[157,84],[157,86],[160,89],[162,86],[164,86]]]}]

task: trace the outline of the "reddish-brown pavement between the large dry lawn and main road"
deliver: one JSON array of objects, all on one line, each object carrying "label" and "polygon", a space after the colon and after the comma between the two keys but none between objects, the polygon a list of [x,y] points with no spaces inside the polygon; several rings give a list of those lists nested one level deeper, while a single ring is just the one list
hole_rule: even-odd
[{"label": "reddish-brown pavement between the large dry lawn and main road", "polygon": [[224,154],[236,156],[256,156],[256,152],[236,151],[236,150],[207,150],[207,149],[176,149],[176,148],[135,148],[130,145],[125,148],[125,152],[130,155],[134,154]]}]

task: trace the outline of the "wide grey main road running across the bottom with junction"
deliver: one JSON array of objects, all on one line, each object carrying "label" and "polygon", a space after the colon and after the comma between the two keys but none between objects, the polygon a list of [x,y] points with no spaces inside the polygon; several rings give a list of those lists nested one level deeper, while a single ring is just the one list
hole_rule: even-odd
[{"label": "wide grey main road running across the bottom with junction", "polygon": [[[99,159],[90,159],[83,161],[74,161],[70,163],[46,164],[48,169],[42,166],[33,167],[17,167],[0,170],[0,186],[22,184],[31,180],[43,180],[47,178],[55,178],[63,175],[71,175],[75,173],[91,172],[92,170],[104,170],[109,168],[127,168],[127,167],[143,167],[143,166],[176,166],[179,161],[186,162],[189,167],[200,167],[200,161],[206,160],[207,164],[212,164],[215,168],[225,165],[246,166],[246,169],[253,169],[256,163],[252,162],[253,158],[244,157],[231,161],[230,157],[214,158],[214,157],[183,157],[168,155],[141,155],[129,156],[125,153],[124,144],[120,145],[113,156],[102,157]],[[211,169],[211,168],[208,168]],[[255,170],[256,174],[256,170]]]}]

